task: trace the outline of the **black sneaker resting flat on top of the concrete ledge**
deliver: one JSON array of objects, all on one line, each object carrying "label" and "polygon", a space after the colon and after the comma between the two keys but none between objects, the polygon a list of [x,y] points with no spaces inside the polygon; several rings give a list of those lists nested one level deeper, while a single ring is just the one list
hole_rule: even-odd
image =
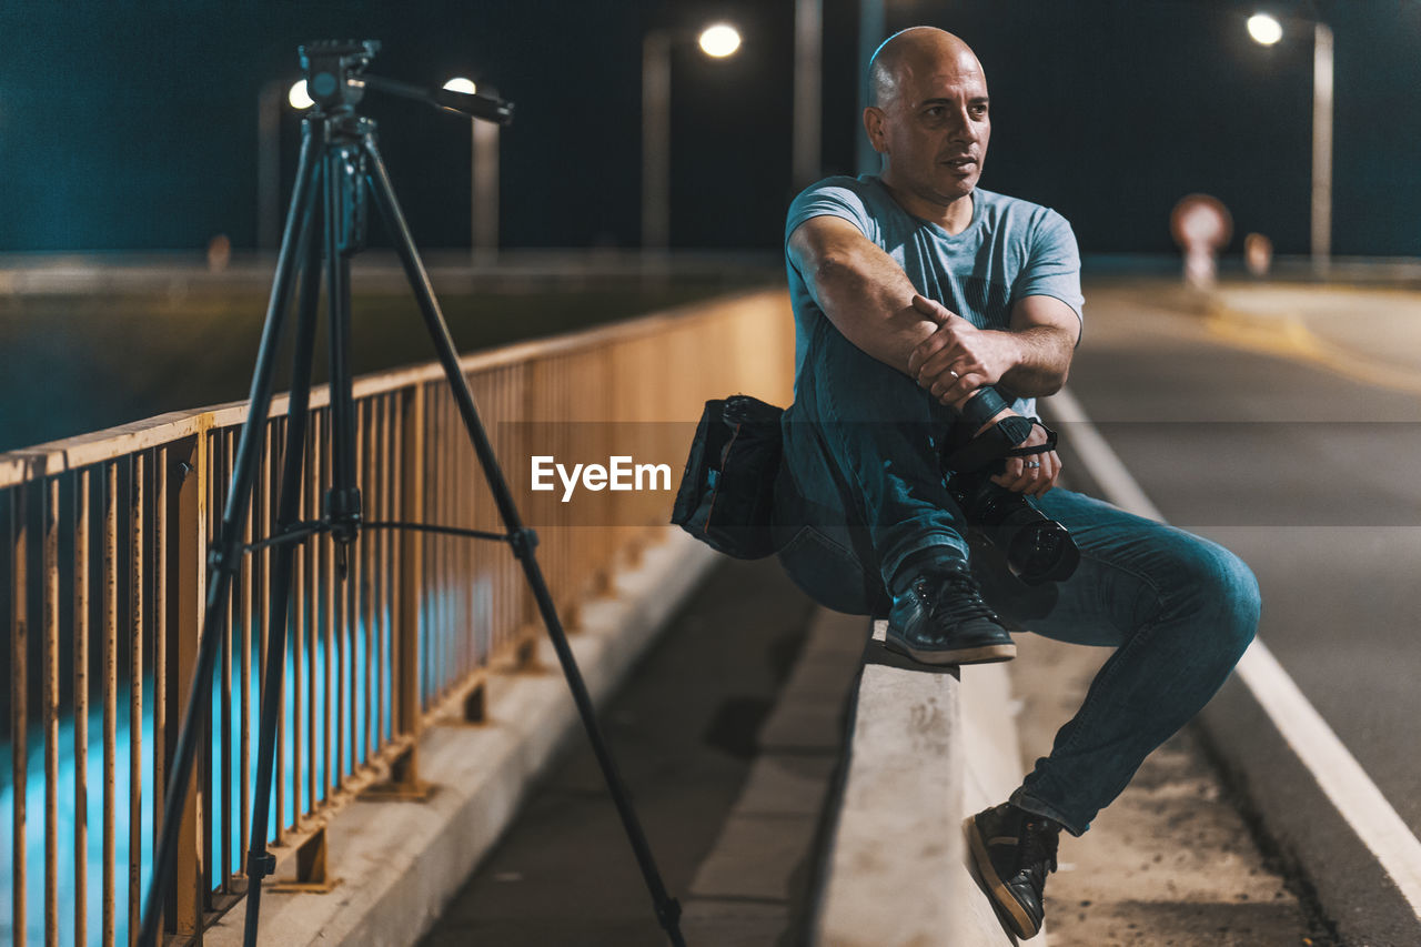
[{"label": "black sneaker resting flat on top of the concrete ledge", "polygon": [[965,562],[936,562],[894,596],[885,647],[922,664],[989,664],[1016,657],[1012,636]]}]

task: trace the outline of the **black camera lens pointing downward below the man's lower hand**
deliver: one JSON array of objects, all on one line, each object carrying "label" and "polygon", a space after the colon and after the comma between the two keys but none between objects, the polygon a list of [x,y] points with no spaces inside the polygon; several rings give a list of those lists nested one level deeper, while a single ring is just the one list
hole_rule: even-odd
[{"label": "black camera lens pointing downward below the man's lower hand", "polygon": [[1070,530],[1029,498],[993,483],[988,474],[953,474],[948,492],[968,525],[1006,556],[1012,574],[1022,582],[1039,586],[1074,574],[1080,550]]}]

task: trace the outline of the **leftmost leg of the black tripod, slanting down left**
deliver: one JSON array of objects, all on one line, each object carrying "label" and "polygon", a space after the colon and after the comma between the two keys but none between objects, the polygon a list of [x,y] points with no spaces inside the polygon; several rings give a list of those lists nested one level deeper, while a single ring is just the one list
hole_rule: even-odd
[{"label": "leftmost leg of the black tripod, slanting down left", "polygon": [[163,796],[163,828],[155,847],[153,876],[149,882],[151,887],[148,889],[138,934],[138,943],[144,946],[156,944],[158,940],[158,924],[162,916],[163,899],[168,893],[168,886],[172,883],[173,862],[178,853],[178,832],[182,825],[182,810],[188,796],[188,786],[192,781],[198,735],[206,728],[207,712],[212,707],[212,671],[217,656],[217,644],[222,638],[222,613],[232,587],[232,576],[237,570],[237,560],[242,555],[242,522],[247,516],[247,505],[252,501],[252,481],[260,458],[259,445],[261,444],[267,412],[271,407],[271,374],[276,361],[277,340],[281,336],[281,326],[286,321],[286,311],[290,306],[291,276],[297,256],[297,235],[303,229],[303,220],[306,219],[307,195],[315,168],[311,152],[311,134],[307,127],[301,141],[301,159],[296,188],[291,193],[291,209],[286,219],[286,233],[281,237],[281,253],[277,257],[276,279],[271,284],[266,327],[261,330],[261,346],[257,351],[257,363],[252,375],[250,412],[247,414],[246,424],[242,427],[242,438],[237,442],[237,456],[232,472],[232,485],[227,492],[227,505],[222,516],[222,526],[217,530],[217,542],[213,545],[207,559],[207,600],[202,619],[202,636],[198,643],[198,661],[193,668],[192,690],[188,694],[188,707],[183,710],[182,728],[178,731],[172,771],[168,779],[166,795]]}]

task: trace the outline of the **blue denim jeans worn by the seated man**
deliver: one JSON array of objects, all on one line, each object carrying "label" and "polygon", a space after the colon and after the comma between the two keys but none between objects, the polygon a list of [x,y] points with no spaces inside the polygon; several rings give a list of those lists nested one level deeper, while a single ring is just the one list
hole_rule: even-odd
[{"label": "blue denim jeans worn by the seated man", "polygon": [[898,565],[926,546],[949,546],[944,553],[968,556],[1009,624],[1115,648],[1050,755],[1012,795],[1081,835],[1228,678],[1258,627],[1258,582],[1216,543],[1056,488],[1037,506],[1070,530],[1080,566],[1066,582],[1023,584],[995,550],[963,539],[938,465],[952,422],[952,412],[824,320],[784,412],[780,562],[826,607],[881,617]]}]

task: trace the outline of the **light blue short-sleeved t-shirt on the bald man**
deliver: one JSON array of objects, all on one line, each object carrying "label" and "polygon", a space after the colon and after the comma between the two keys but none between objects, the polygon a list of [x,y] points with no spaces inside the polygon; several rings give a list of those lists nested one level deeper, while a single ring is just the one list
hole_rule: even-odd
[{"label": "light blue short-sleeved t-shirt on the bald man", "polygon": [[[948,233],[915,218],[890,196],[877,175],[826,178],[790,205],[784,242],[810,218],[848,220],[902,267],[914,289],[979,328],[1009,328],[1012,306],[1027,296],[1054,296],[1081,317],[1080,253],[1066,218],[1029,200],[980,188],[972,192],[972,223]],[[794,382],[817,320],[828,319],[786,255],[794,306]],[[1036,414],[1034,398],[1015,404]]]}]

